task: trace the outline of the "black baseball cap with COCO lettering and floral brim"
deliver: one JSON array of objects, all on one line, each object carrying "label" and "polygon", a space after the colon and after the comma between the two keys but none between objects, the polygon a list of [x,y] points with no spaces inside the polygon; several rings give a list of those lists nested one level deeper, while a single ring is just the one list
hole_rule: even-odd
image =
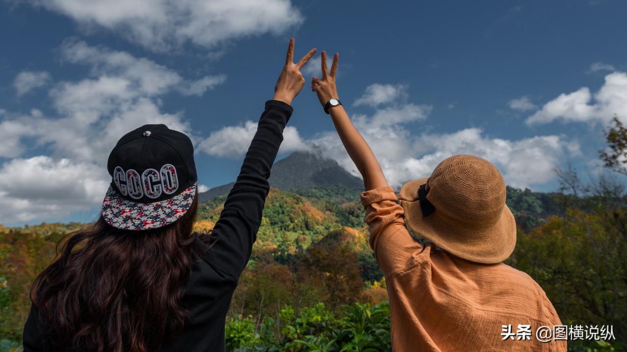
[{"label": "black baseball cap with COCO lettering and floral brim", "polygon": [[125,134],[107,161],[112,177],[102,216],[118,229],[157,229],[180,219],[196,196],[194,146],[166,125]]}]

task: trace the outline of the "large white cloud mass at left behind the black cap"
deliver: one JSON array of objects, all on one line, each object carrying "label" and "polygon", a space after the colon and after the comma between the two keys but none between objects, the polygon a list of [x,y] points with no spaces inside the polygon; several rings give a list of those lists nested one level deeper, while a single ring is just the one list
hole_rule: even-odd
[{"label": "large white cloud mass at left behind the black cap", "polygon": [[[224,80],[189,80],[154,61],[76,40],[63,43],[60,53],[68,63],[87,65],[88,77],[50,88],[50,116],[36,109],[1,116],[0,157],[13,159],[0,170],[0,222],[58,219],[98,206],[110,180],[108,153],[117,140],[141,125],[164,123],[193,142],[189,122],[182,113],[162,111],[161,96],[201,95]],[[27,145],[47,153],[24,158]]]}]

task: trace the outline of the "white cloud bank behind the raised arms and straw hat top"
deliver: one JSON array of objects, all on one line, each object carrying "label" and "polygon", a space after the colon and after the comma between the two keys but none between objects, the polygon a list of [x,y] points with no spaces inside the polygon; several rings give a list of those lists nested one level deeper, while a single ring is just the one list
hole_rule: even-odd
[{"label": "white cloud bank behind the raised arms and straw hat top", "polygon": [[[508,185],[532,187],[554,179],[554,169],[564,157],[581,154],[576,142],[569,142],[558,135],[505,140],[487,136],[479,128],[414,135],[406,124],[425,120],[431,106],[394,102],[393,106],[377,108],[372,115],[355,115],[352,118],[355,127],[376,154],[387,181],[394,187],[408,180],[426,177],[445,158],[464,153],[494,163]],[[302,140],[296,128],[292,128],[285,129],[283,151],[320,153],[360,177],[337,132],[322,132],[315,138]],[[251,121],[224,127],[211,133],[199,149],[217,157],[241,157],[255,132],[256,123]]]}]

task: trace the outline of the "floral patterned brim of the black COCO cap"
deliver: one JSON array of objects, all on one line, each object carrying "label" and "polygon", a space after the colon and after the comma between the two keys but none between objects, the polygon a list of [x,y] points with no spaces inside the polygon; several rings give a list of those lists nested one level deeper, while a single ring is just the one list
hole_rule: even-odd
[{"label": "floral patterned brim of the black COCO cap", "polygon": [[102,217],[117,229],[158,229],[181,219],[194,202],[195,194],[194,183],[171,199],[144,204],[126,200],[109,187],[102,202]]}]

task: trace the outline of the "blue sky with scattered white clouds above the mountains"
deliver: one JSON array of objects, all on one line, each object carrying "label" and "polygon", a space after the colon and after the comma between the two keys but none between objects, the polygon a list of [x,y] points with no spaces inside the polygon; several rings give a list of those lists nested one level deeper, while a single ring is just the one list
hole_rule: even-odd
[{"label": "blue sky with scattered white clouds above the mountains", "polygon": [[[131,4],[132,3],[132,4]],[[144,123],[192,136],[199,184],[234,180],[287,42],[340,53],[338,88],[398,186],[456,153],[508,184],[602,168],[627,120],[623,1],[0,1],[0,223],[93,220],[117,138]],[[320,56],[303,70],[319,74]],[[280,157],[355,173],[307,85]]]}]

